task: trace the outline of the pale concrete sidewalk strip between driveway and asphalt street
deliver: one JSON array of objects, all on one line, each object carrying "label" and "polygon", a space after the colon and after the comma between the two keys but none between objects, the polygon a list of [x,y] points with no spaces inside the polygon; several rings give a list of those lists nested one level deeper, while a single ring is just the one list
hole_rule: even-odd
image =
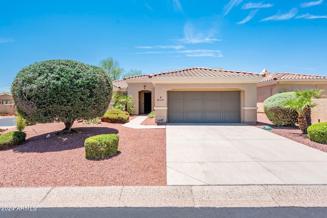
[{"label": "pale concrete sidewalk strip between driveway and asphalt street", "polygon": [[327,207],[327,186],[107,186],[0,188],[0,206]]}]

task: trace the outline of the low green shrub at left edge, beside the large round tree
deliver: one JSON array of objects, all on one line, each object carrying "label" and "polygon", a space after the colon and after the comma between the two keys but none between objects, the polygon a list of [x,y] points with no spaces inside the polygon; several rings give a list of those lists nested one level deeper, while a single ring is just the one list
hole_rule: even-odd
[{"label": "low green shrub at left edge, beside the large round tree", "polygon": [[7,149],[14,145],[23,143],[26,139],[26,133],[16,131],[0,135],[0,150]]}]

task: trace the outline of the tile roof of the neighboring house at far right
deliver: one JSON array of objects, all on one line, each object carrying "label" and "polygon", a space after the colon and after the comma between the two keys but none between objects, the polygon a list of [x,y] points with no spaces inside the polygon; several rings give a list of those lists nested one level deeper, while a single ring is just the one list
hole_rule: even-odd
[{"label": "tile roof of the neighboring house at far right", "polygon": [[272,80],[278,79],[327,79],[327,76],[317,76],[317,75],[310,75],[310,74],[295,74],[295,73],[275,73],[264,77],[260,82],[267,82]]}]

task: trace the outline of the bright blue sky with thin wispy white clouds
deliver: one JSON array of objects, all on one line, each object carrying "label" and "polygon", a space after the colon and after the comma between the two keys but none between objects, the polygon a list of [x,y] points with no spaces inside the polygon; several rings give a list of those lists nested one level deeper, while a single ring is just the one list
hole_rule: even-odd
[{"label": "bright blue sky with thin wispy white clouds", "polygon": [[189,67],[327,75],[327,0],[0,3],[0,92],[34,62],[109,56],[144,74]]}]

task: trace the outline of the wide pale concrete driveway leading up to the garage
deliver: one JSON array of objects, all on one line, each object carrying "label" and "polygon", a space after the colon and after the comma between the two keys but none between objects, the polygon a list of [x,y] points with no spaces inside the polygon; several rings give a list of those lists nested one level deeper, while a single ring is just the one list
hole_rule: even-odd
[{"label": "wide pale concrete driveway leading up to the garage", "polygon": [[327,185],[327,153],[242,123],[167,124],[168,185]]}]

